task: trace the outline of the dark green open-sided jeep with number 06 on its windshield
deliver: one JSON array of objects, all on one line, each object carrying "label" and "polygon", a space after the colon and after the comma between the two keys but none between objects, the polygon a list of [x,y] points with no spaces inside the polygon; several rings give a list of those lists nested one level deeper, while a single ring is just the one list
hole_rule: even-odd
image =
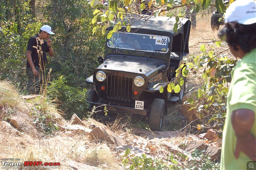
[{"label": "dark green open-sided jeep with number 06 on its windshield", "polygon": [[134,18],[127,23],[131,31],[115,32],[106,40],[104,59],[98,58],[102,64],[86,79],[96,89],[88,91],[87,102],[106,105],[108,112],[148,116],[151,130],[161,131],[168,100],[182,101],[185,92],[185,83],[179,93],[169,93],[167,86],[177,77],[175,70],[183,58],[188,58],[191,22],[181,19],[175,32],[175,18]]}]

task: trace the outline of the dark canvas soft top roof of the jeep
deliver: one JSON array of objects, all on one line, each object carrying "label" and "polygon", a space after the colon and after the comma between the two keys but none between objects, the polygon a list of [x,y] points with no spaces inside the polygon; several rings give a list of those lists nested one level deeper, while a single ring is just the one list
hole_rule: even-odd
[{"label": "dark canvas soft top roof of the jeep", "polygon": [[[177,35],[179,33],[184,33],[184,25],[188,19],[181,19],[178,22],[177,32],[173,31],[174,24],[176,23],[175,18],[170,17],[146,17],[146,18],[137,18],[130,17],[126,18],[128,24],[131,25],[132,32],[144,32],[144,33],[153,33],[156,35]],[[116,22],[117,23],[117,22]],[[113,27],[109,27],[108,31],[113,29]],[[126,29],[124,29],[126,30]],[[120,30],[122,31],[122,29]]]}]

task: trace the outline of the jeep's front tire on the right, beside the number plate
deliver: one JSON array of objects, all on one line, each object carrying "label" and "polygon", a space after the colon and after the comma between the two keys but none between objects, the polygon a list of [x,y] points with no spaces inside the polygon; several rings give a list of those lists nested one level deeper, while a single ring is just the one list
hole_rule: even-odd
[{"label": "jeep's front tire on the right, beside the number plate", "polygon": [[152,131],[162,131],[164,123],[165,102],[163,99],[155,98],[153,100],[150,114],[149,127]]}]

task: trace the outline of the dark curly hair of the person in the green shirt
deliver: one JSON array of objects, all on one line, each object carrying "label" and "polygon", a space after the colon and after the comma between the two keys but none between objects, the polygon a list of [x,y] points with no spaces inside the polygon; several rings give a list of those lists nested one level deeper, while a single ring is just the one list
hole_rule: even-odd
[{"label": "dark curly hair of the person in the green shirt", "polygon": [[256,48],[256,23],[250,25],[237,22],[227,22],[218,32],[221,40],[226,41],[234,50],[240,45],[244,52],[250,52]]}]

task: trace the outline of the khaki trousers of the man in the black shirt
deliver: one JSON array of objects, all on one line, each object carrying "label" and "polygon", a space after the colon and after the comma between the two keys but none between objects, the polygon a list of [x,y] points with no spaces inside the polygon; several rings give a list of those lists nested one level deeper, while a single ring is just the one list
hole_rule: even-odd
[{"label": "khaki trousers of the man in the black shirt", "polygon": [[34,76],[31,67],[26,68],[26,74],[28,75],[28,86],[27,90],[29,94],[39,94],[42,92],[43,84],[45,82],[45,72],[40,70],[39,67],[35,67],[39,73],[38,77]]}]

